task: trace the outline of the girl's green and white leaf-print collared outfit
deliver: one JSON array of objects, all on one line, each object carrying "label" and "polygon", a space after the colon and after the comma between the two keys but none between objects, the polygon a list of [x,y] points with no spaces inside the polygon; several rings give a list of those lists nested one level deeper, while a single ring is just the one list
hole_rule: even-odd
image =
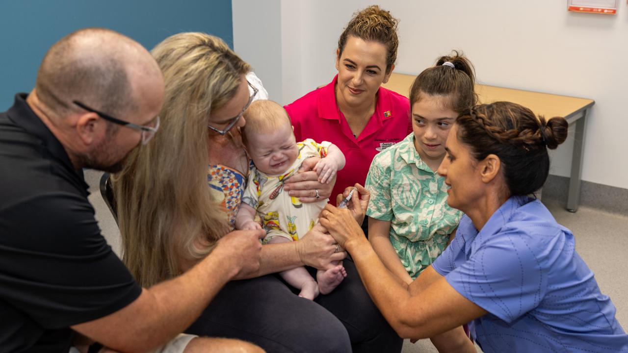
[{"label": "girl's green and white leaf-print collared outfit", "polygon": [[421,160],[409,134],[375,156],[365,184],[371,193],[366,214],[391,221],[391,243],[415,279],[445,250],[462,217],[447,204],[445,178]]}]

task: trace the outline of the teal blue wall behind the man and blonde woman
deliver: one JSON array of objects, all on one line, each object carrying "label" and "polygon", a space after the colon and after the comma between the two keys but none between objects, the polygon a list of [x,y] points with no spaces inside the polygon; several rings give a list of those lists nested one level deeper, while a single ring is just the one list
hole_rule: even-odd
[{"label": "teal blue wall behind the man and blonde woman", "polygon": [[233,48],[231,0],[0,0],[0,111],[29,92],[53,43],[85,27],[105,27],[149,50],[167,36],[202,31]]}]

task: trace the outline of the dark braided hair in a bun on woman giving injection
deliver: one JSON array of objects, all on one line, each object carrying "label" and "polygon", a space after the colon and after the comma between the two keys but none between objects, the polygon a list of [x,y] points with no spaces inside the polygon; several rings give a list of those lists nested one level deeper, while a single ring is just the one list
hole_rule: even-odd
[{"label": "dark braided hair in a bun on woman giving injection", "polygon": [[567,138],[563,117],[544,117],[519,104],[495,102],[475,106],[456,119],[457,138],[476,160],[497,155],[510,195],[529,195],[543,186],[549,173],[548,148]]}]

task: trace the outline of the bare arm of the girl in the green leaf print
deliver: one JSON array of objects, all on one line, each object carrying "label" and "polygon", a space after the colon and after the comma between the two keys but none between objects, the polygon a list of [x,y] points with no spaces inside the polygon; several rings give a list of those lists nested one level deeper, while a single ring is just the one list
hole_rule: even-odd
[{"label": "bare arm of the girl in the green leaf print", "polygon": [[401,260],[393,244],[391,244],[390,229],[391,221],[369,217],[369,242],[371,242],[373,250],[392,274],[399,277],[404,283],[410,284],[412,283],[412,278],[403,264],[401,264]]}]

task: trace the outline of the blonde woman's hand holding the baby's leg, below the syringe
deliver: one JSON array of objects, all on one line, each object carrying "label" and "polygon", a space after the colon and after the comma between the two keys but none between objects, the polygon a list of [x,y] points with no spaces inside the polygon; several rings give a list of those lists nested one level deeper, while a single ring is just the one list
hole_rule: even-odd
[{"label": "blonde woman's hand holding the baby's leg, below the syringe", "polygon": [[335,265],[332,261],[340,261],[347,257],[347,252],[337,252],[336,241],[325,234],[327,230],[317,224],[301,239],[295,241],[296,251],[303,264],[317,269],[330,269]]}]

